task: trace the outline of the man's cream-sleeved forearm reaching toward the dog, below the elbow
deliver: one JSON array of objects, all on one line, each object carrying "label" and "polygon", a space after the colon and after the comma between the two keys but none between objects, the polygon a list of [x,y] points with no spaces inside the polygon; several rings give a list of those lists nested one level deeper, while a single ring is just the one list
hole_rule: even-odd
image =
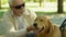
[{"label": "man's cream-sleeved forearm reaching toward the dog, below the elbow", "polygon": [[26,28],[22,28],[20,30],[10,30],[7,33],[7,37],[24,37],[25,35],[26,35]]}]

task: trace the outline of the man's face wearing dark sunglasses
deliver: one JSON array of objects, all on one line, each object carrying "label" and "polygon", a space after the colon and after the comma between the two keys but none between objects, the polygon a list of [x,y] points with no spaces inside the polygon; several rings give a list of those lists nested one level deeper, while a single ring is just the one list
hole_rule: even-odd
[{"label": "man's face wearing dark sunglasses", "polygon": [[10,8],[15,15],[20,16],[25,11],[25,3],[22,0],[16,0]]}]

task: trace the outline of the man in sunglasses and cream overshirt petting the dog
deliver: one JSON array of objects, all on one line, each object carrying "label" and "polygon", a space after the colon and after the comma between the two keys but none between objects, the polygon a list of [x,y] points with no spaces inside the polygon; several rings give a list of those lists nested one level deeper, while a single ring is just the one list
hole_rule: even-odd
[{"label": "man in sunglasses and cream overshirt petting the dog", "polygon": [[34,28],[36,14],[26,10],[24,4],[24,0],[9,0],[10,10],[3,14],[6,37],[26,37]]}]

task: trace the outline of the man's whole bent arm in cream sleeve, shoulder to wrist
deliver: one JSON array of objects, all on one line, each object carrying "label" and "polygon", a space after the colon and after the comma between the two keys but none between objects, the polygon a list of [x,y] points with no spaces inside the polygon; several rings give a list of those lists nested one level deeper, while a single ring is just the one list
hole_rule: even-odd
[{"label": "man's whole bent arm in cream sleeve, shoulder to wrist", "polygon": [[16,37],[16,36],[24,36],[26,35],[26,28],[22,28],[20,30],[15,30],[13,23],[11,22],[10,17],[8,14],[3,15],[3,28],[6,30],[6,36],[7,37]]}]

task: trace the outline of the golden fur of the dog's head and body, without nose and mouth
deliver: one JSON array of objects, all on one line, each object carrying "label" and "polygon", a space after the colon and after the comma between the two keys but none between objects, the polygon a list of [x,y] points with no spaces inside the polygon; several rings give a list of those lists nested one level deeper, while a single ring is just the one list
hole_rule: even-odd
[{"label": "golden fur of the dog's head and body, without nose and mouth", "polygon": [[53,25],[47,17],[37,16],[34,23],[38,28],[44,27],[35,37],[62,37],[59,28]]}]

